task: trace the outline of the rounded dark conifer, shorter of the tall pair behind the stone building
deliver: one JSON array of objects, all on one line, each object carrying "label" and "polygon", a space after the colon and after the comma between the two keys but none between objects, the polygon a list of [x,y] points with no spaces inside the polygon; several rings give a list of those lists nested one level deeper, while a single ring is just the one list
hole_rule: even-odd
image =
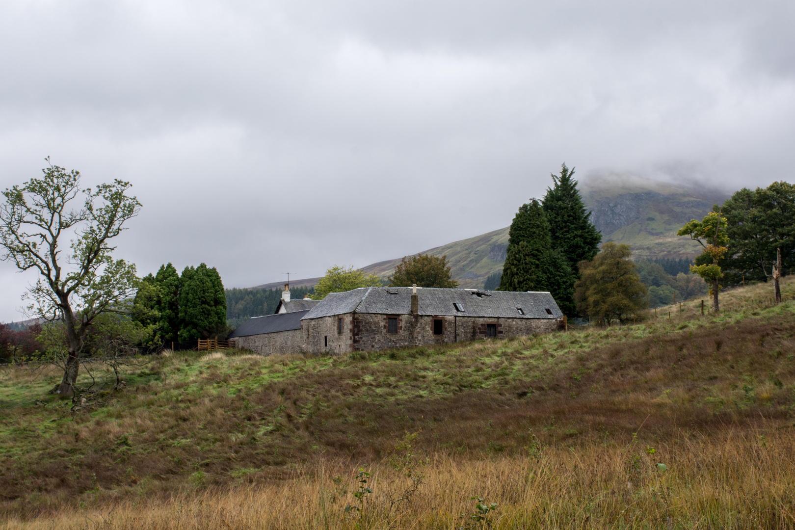
[{"label": "rounded dark conifer, shorter of the tall pair behind the stone building", "polygon": [[522,204],[508,231],[508,249],[499,291],[549,291],[571,315],[576,277],[568,260],[552,246],[549,222],[536,199]]}]

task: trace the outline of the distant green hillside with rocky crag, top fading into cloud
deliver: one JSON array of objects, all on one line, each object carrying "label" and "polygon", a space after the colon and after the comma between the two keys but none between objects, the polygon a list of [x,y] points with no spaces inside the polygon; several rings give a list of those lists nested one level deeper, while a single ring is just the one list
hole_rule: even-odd
[{"label": "distant green hillside with rocky crag, top fading into cloud", "polygon": [[[597,177],[580,184],[591,219],[603,242],[632,246],[634,258],[678,259],[700,253],[698,243],[677,236],[685,222],[701,219],[728,195],[722,191],[687,188],[630,176]],[[517,207],[519,205],[517,204]],[[452,277],[463,288],[483,288],[489,274],[502,269],[508,246],[508,227],[437,246],[421,253],[447,254]],[[363,267],[366,273],[389,277],[401,258]]]}]

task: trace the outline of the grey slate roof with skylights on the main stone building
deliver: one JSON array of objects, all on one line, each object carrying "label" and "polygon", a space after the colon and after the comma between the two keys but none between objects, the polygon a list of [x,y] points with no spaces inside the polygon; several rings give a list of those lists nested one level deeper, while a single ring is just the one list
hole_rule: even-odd
[{"label": "grey slate roof with skylights on the main stone building", "polygon": [[[417,288],[420,315],[482,316],[515,319],[560,319],[563,313],[549,292],[475,291],[470,289]],[[454,304],[461,304],[457,311]],[[522,312],[519,309],[522,309]],[[552,314],[546,310],[549,309]],[[366,287],[332,292],[302,319],[344,313],[411,313],[410,287]]]}]

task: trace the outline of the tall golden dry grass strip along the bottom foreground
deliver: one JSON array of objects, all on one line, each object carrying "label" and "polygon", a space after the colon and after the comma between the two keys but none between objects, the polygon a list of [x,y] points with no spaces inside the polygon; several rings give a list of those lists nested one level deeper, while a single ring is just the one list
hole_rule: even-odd
[{"label": "tall golden dry grass strip along the bottom foreground", "polygon": [[525,457],[431,458],[414,469],[425,483],[397,505],[391,501],[409,479],[382,462],[368,468],[373,493],[361,514],[343,512],[355,504],[355,466],[325,462],[281,482],[230,489],[197,483],[169,498],[142,494],[0,528],[452,529],[473,524],[474,496],[498,509],[486,524],[469,528],[795,528],[793,438],[792,428],[768,437],[727,430],[711,437],[681,433],[653,451],[595,439],[579,448],[533,445]]}]

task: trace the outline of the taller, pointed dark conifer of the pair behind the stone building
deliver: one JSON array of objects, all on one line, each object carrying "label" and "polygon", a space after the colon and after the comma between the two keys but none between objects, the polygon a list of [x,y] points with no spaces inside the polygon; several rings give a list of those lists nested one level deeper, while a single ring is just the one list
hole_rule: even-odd
[{"label": "taller, pointed dark conifer of the pair behind the stone building", "polygon": [[602,234],[591,223],[591,212],[587,211],[577,190],[574,168],[560,166],[560,176],[553,175],[553,188],[547,188],[544,196],[544,212],[552,228],[552,246],[560,250],[568,265],[579,275],[580,261],[591,261],[599,253]]}]

